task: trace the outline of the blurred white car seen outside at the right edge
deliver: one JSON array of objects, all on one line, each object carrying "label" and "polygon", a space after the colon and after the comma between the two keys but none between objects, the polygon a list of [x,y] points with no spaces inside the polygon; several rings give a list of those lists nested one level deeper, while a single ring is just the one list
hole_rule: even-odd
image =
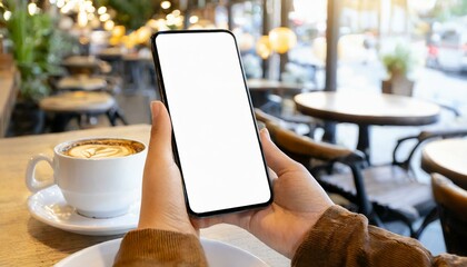
[{"label": "blurred white car seen outside at the right edge", "polygon": [[428,44],[426,65],[446,71],[467,71],[467,31],[434,33]]}]

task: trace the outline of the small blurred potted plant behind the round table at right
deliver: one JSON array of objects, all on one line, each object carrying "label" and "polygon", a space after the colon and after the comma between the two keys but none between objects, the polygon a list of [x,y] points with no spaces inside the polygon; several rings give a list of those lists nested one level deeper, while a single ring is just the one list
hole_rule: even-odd
[{"label": "small blurred potted plant behind the round table at right", "polygon": [[416,65],[416,59],[410,48],[399,43],[393,52],[382,55],[381,61],[389,77],[382,80],[382,92],[411,97],[415,82],[409,75]]}]

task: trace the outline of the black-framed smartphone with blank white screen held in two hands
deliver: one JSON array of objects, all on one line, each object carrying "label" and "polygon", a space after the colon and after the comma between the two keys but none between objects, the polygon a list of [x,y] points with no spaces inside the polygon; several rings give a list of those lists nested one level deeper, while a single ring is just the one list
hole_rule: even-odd
[{"label": "black-framed smartphone with blank white screen held in two hands", "polygon": [[203,217],[269,205],[271,185],[235,36],[162,31],[151,47],[188,211]]}]

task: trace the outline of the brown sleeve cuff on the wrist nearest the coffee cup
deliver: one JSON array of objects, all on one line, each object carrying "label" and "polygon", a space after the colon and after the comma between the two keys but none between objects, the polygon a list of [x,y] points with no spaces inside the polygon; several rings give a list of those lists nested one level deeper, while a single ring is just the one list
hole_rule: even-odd
[{"label": "brown sleeve cuff on the wrist nearest the coffee cup", "polygon": [[199,238],[158,229],[129,231],[113,266],[208,266]]}]

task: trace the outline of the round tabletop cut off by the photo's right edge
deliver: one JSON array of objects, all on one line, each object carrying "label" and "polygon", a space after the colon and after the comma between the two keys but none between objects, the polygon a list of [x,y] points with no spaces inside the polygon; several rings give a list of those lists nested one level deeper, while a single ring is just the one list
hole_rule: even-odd
[{"label": "round tabletop cut off by the photo's right edge", "polygon": [[427,144],[421,152],[421,168],[438,172],[467,190],[467,139],[454,138]]}]

